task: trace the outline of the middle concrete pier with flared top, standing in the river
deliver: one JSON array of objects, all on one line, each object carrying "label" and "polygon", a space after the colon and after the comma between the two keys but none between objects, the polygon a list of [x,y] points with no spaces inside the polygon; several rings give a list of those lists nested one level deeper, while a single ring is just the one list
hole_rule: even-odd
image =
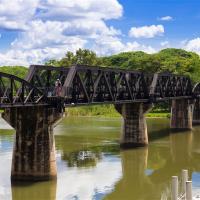
[{"label": "middle concrete pier with flared top, standing in the river", "polygon": [[118,104],[115,108],[123,117],[120,146],[131,148],[147,145],[148,134],[144,114],[152,108],[152,104]]}]

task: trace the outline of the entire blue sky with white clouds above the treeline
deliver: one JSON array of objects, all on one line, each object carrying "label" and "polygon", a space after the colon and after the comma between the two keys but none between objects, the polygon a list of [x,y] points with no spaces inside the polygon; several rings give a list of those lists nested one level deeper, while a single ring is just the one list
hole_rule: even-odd
[{"label": "entire blue sky with white clouds above the treeline", "polygon": [[0,65],[43,63],[78,48],[200,54],[199,22],[198,0],[0,0]]}]

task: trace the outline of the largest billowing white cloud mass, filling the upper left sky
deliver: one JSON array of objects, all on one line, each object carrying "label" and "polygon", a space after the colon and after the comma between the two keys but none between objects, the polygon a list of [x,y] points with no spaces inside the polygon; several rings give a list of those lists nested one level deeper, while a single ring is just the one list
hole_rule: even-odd
[{"label": "largest billowing white cloud mass, filling the upper left sky", "polygon": [[0,64],[28,65],[61,58],[99,37],[121,31],[106,24],[122,16],[117,0],[0,0],[0,28],[21,30]]}]

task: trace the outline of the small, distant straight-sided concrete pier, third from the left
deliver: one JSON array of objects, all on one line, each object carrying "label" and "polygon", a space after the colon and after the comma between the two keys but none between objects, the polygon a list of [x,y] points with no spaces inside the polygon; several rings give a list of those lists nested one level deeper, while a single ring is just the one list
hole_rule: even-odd
[{"label": "small, distant straight-sided concrete pier, third from the left", "polygon": [[192,129],[193,103],[188,99],[172,100],[171,129]]}]

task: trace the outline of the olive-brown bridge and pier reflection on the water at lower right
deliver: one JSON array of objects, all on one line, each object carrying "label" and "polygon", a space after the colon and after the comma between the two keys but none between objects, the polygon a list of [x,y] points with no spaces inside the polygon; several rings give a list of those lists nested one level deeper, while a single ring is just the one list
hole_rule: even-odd
[{"label": "olive-brown bridge and pier reflection on the water at lower right", "polygon": [[200,172],[199,134],[171,134],[148,148],[121,151],[123,176],[105,200],[166,200],[173,175]]}]

